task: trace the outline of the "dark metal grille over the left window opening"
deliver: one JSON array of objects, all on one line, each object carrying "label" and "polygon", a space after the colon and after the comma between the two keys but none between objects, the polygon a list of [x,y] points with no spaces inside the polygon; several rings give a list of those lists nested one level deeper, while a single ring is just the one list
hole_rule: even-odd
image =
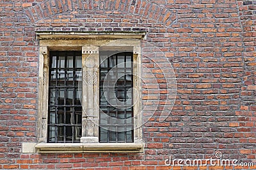
[{"label": "dark metal grille over the left window opening", "polygon": [[49,68],[49,143],[78,143],[82,132],[82,57],[79,51],[51,51]]}]

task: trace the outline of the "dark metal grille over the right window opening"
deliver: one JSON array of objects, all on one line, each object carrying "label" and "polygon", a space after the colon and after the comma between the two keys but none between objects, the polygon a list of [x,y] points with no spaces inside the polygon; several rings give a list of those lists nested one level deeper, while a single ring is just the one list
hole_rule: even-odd
[{"label": "dark metal grille over the right window opening", "polygon": [[[101,143],[133,142],[132,52],[100,53]],[[110,57],[108,57],[110,56]]]}]

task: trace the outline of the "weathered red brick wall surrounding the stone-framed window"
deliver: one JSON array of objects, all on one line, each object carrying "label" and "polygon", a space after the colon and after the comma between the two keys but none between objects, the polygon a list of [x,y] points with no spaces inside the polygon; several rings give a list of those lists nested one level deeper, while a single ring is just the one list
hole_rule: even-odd
[{"label": "weathered red brick wall surrounding the stone-framed window", "polygon": [[[209,158],[216,151],[256,163],[255,9],[256,1],[239,0],[2,0],[0,169],[168,169],[169,155]],[[172,64],[177,96],[166,120],[159,122],[160,104],[143,125],[145,153],[21,153],[22,143],[36,142],[36,30],[147,31],[146,42]],[[157,65],[142,62],[166,88]],[[166,92],[150,93],[143,87],[143,104],[168,102]]]}]

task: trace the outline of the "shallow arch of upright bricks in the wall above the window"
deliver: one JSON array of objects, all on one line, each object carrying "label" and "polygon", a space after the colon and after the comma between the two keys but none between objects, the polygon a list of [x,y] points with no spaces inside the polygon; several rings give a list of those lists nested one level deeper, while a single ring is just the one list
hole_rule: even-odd
[{"label": "shallow arch of upright bricks in the wall above the window", "polygon": [[[58,2],[58,3],[57,3]],[[106,14],[123,14],[130,13],[132,15],[140,15],[147,19],[155,20],[156,23],[170,26],[176,19],[177,14],[158,4],[150,3],[149,1],[128,0],[124,3],[120,0],[113,1],[82,1],[76,2],[66,1],[44,1],[35,4],[29,8],[24,8],[24,12],[32,23],[42,19],[50,18],[60,13],[79,14],[79,12],[88,12],[88,10],[98,10]]]}]

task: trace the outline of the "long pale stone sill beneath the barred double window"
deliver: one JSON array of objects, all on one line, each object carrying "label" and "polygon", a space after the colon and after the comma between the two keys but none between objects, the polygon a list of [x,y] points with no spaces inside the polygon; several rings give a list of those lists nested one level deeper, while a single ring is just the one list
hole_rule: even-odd
[{"label": "long pale stone sill beneath the barred double window", "polygon": [[39,143],[37,153],[143,152],[144,143]]}]

